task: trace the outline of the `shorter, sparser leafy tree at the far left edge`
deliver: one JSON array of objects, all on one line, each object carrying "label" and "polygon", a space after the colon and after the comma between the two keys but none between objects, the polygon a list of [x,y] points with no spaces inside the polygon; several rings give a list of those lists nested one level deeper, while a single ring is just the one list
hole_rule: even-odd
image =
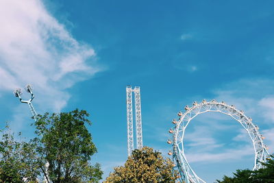
[{"label": "shorter, sparser leafy tree at the far left edge", "polygon": [[0,142],[0,182],[37,182],[40,171],[35,147],[32,141],[15,141],[7,125]]}]

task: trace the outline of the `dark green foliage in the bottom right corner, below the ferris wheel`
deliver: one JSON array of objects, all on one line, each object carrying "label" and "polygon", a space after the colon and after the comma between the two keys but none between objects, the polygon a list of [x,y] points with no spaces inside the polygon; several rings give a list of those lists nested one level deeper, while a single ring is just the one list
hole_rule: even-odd
[{"label": "dark green foliage in the bottom right corner, below the ferris wheel", "polygon": [[232,178],[223,177],[223,180],[216,180],[219,183],[265,183],[265,182],[274,182],[274,156],[267,160],[267,162],[262,163],[264,165],[263,169],[258,169],[256,171],[251,171],[249,169],[245,170],[236,170],[236,173],[233,173]]}]

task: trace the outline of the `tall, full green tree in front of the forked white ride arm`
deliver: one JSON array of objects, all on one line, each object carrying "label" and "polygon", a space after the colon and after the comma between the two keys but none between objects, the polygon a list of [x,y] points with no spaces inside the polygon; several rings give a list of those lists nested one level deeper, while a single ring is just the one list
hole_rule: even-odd
[{"label": "tall, full green tree in front of the forked white ride arm", "polygon": [[[36,134],[38,152],[49,163],[47,178],[53,183],[99,182],[103,172],[99,164],[90,164],[97,152],[85,124],[90,125],[85,110],[38,116]],[[43,169],[45,172],[45,169]]]}]

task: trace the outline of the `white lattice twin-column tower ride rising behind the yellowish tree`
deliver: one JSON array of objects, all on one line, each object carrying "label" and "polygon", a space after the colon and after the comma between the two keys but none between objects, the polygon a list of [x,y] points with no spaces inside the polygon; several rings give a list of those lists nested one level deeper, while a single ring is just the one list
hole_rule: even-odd
[{"label": "white lattice twin-column tower ride rising behind the yellowish tree", "polygon": [[142,114],[140,87],[135,86],[135,88],[132,89],[132,86],[127,86],[127,156],[130,156],[132,154],[132,151],[134,150],[132,92],[134,93],[137,149],[142,148]]}]

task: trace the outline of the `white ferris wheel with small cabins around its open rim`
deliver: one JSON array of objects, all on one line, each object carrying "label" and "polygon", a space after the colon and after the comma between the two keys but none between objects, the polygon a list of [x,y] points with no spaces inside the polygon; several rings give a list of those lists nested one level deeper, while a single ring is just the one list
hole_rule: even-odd
[{"label": "white ferris wheel with small cabins around its open rim", "polygon": [[192,119],[197,117],[197,115],[205,112],[221,112],[232,117],[238,121],[242,127],[245,128],[251,141],[253,143],[253,148],[255,151],[255,160],[253,170],[257,170],[263,167],[262,162],[266,162],[267,158],[270,158],[268,147],[264,145],[264,136],[260,134],[259,127],[252,123],[252,119],[247,117],[242,110],[237,110],[235,106],[229,106],[224,101],[217,102],[215,99],[212,101],[203,100],[201,103],[196,101],[193,103],[192,107],[186,106],[185,112],[178,112],[179,119],[173,119],[172,123],[175,125],[169,130],[169,133],[173,134],[172,140],[169,139],[167,143],[173,145],[173,151],[169,151],[169,155],[173,156],[173,167],[179,172],[177,178],[180,182],[186,183],[201,183],[204,182],[201,178],[196,175],[195,171],[191,169],[188,160],[184,154],[184,134],[186,127]]}]

